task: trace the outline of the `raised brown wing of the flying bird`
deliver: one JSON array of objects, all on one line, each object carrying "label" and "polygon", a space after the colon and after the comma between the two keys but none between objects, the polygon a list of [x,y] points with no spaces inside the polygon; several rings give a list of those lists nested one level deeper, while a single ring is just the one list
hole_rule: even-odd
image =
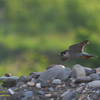
[{"label": "raised brown wing of the flying bird", "polygon": [[81,43],[77,43],[77,44],[71,45],[71,46],[69,47],[69,50],[68,50],[68,51],[69,51],[70,53],[82,52],[84,46],[85,46],[86,44],[88,44],[88,43],[89,43],[89,41],[86,40],[86,41],[83,41],[83,42],[81,42]]}]

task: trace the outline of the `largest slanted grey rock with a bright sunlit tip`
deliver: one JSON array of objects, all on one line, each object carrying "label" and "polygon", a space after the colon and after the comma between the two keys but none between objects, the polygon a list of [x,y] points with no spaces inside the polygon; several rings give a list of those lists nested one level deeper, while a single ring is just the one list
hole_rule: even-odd
[{"label": "largest slanted grey rock with a bright sunlit tip", "polygon": [[37,81],[43,81],[46,82],[52,81],[55,78],[57,78],[57,75],[59,74],[59,72],[64,69],[65,67],[63,65],[55,65],[55,67],[50,68],[49,70],[46,70],[45,72],[43,72],[40,77],[37,79]]}]

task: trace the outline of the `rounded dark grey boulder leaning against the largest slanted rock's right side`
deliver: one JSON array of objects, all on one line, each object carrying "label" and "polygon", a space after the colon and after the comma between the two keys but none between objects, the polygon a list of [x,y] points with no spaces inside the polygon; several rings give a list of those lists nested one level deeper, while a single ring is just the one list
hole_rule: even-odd
[{"label": "rounded dark grey boulder leaning against the largest slanted rock's right side", "polygon": [[57,78],[60,79],[61,81],[65,81],[66,79],[68,79],[70,74],[71,74],[70,68],[64,68],[59,72]]}]

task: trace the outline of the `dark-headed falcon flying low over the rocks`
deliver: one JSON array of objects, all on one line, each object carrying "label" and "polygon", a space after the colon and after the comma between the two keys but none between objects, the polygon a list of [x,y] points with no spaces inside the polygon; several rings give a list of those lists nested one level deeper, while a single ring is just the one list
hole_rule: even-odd
[{"label": "dark-headed falcon flying low over the rocks", "polygon": [[83,52],[84,46],[86,44],[89,44],[88,40],[85,40],[83,42],[71,45],[69,47],[69,50],[65,50],[59,53],[60,59],[62,61],[66,61],[70,58],[83,58],[83,59],[87,59],[87,58],[91,58],[91,57],[97,57],[97,56],[93,56],[91,54],[88,54],[86,52]]}]

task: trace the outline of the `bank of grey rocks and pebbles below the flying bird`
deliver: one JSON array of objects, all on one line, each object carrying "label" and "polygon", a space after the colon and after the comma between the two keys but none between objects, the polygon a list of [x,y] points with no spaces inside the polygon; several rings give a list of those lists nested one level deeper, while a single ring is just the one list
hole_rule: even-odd
[{"label": "bank of grey rocks and pebbles below the flying bird", "polygon": [[100,100],[100,68],[50,65],[29,76],[0,78],[0,100]]}]

